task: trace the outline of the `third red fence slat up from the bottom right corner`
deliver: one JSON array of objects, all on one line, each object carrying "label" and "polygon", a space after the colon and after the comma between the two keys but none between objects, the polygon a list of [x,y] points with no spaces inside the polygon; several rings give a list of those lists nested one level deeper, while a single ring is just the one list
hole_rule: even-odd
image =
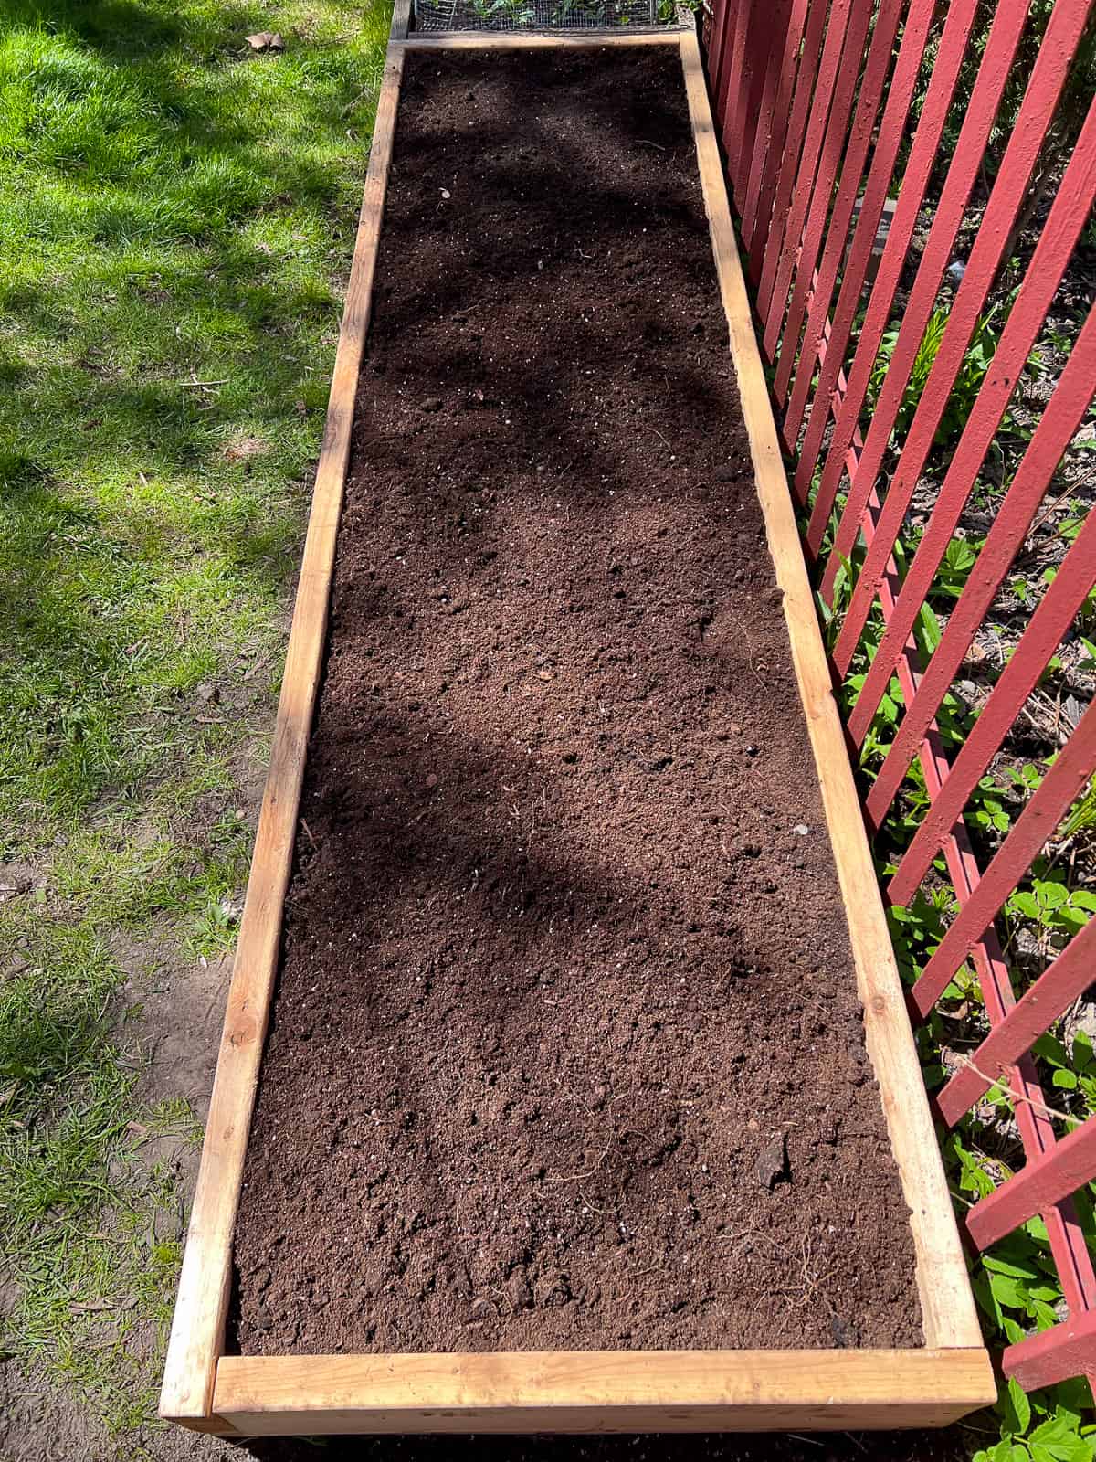
[{"label": "third red fence slat up from the bottom right corner", "polygon": [[1054,1022],[1096,982],[1096,920],[1090,920],[1032,988],[982,1041],[969,1064],[940,1092],[940,1114],[954,1126]]}]

